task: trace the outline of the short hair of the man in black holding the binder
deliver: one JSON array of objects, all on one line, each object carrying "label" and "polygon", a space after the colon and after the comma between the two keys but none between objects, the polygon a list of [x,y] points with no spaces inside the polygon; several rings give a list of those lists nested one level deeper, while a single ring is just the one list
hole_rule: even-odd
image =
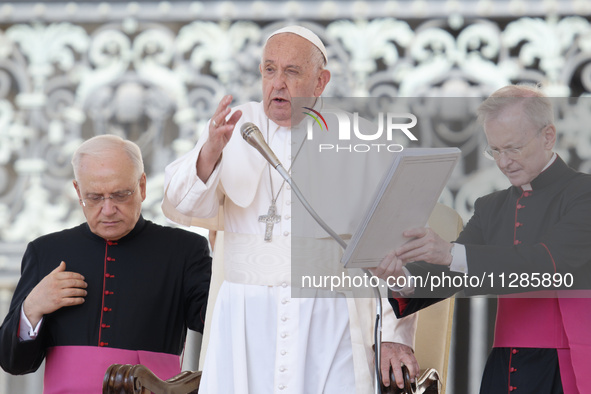
[{"label": "short hair of the man in black holding the binder", "polygon": [[537,85],[509,85],[495,91],[478,107],[478,121],[484,124],[489,117],[516,105],[538,128],[554,124],[552,102]]}]

